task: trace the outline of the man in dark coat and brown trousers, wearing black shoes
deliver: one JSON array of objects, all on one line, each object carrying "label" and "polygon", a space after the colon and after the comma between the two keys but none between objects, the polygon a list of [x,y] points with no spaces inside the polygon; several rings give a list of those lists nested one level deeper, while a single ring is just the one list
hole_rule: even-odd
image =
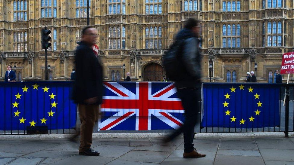
[{"label": "man in dark coat and brown trousers, wearing black shoes", "polygon": [[82,41],[76,50],[76,79],[73,86],[73,99],[78,104],[80,115],[80,155],[98,156],[92,150],[92,133],[98,121],[99,104],[102,103],[102,67],[93,53],[97,32],[94,26],[82,30]]}]

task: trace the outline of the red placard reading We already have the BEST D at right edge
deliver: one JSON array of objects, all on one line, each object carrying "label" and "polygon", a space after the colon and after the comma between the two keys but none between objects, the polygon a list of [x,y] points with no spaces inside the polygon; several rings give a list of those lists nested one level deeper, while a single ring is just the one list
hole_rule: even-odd
[{"label": "red placard reading We already have the BEST D at right edge", "polygon": [[294,52],[284,53],[281,74],[294,73]]}]

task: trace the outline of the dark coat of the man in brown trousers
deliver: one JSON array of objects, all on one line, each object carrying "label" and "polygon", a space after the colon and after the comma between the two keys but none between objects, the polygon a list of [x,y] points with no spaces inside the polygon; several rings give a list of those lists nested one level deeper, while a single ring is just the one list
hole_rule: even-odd
[{"label": "dark coat of the man in brown trousers", "polygon": [[85,104],[86,99],[98,97],[95,104],[102,104],[102,66],[93,50],[85,42],[78,44],[73,100],[78,104]]}]

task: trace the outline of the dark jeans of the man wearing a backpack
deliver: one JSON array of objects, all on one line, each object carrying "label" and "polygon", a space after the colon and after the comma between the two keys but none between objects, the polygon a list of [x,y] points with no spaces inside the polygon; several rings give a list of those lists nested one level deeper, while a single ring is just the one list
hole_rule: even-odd
[{"label": "dark jeans of the man wearing a backpack", "polygon": [[169,138],[172,140],[181,133],[184,133],[184,152],[192,152],[194,150],[194,127],[197,123],[198,112],[200,111],[198,103],[201,100],[200,87],[195,89],[177,89],[177,95],[182,100],[182,105],[185,110],[185,121]]}]

